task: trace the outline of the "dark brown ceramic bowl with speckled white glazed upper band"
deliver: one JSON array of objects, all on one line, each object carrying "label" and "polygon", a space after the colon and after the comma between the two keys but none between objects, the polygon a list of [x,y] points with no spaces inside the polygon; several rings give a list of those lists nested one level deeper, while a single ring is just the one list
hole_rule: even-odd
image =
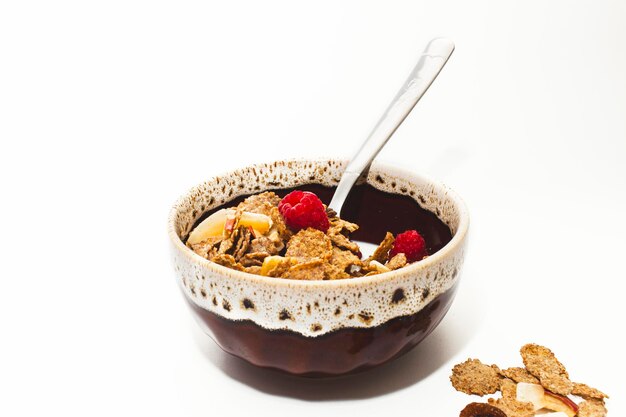
[{"label": "dark brown ceramic bowl with speckled white glazed upper band", "polygon": [[333,281],[264,277],[217,265],[184,244],[194,223],[215,207],[266,190],[335,186],[345,166],[338,160],[250,166],[200,184],[172,208],[168,233],[178,283],[224,351],[291,374],[341,375],[400,356],[443,319],[458,288],[469,218],[455,192],[413,172],[374,164],[366,181],[413,198],[450,228],[452,239],[392,272]]}]

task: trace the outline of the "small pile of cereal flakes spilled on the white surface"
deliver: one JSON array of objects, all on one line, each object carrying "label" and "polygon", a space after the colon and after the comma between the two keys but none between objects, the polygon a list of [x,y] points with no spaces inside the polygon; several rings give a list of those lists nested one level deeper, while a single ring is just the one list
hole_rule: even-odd
[{"label": "small pile of cereal flakes spilled on the white surface", "polygon": [[[609,396],[588,385],[572,382],[552,351],[533,343],[520,350],[524,367],[500,369],[478,359],[468,359],[452,368],[450,381],[460,392],[472,395],[501,393],[488,403],[471,403],[461,417],[534,417],[554,414],[567,417],[605,417],[604,400]],[[580,397],[576,403],[570,396]],[[547,412],[547,413],[546,413]]]}]

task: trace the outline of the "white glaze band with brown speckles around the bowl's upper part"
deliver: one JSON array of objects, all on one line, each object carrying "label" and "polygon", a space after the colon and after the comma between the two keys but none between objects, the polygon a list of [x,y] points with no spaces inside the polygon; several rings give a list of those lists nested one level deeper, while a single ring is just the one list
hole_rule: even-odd
[{"label": "white glaze band with brown speckles around the bowl's upper part", "polygon": [[[204,212],[237,196],[306,183],[334,186],[345,165],[346,161],[337,160],[259,164],[214,177],[181,197],[170,212],[168,233],[174,269],[187,298],[229,320],[251,320],[266,329],[316,337],[414,314],[450,289],[459,279],[465,252],[469,219],[464,203],[442,184],[380,164],[371,167],[369,184],[413,197],[452,231],[446,246],[407,267],[336,281],[271,278],[217,265],[196,255],[181,240]],[[393,296],[399,290],[404,297],[397,301]]]}]

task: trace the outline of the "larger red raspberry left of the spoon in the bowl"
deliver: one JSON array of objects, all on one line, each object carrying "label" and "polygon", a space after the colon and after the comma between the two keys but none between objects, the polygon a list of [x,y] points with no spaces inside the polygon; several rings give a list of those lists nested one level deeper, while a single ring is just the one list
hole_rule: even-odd
[{"label": "larger red raspberry left of the spoon in the bowl", "polygon": [[278,204],[287,226],[297,232],[312,227],[326,233],[330,223],[322,200],[308,191],[292,191]]}]

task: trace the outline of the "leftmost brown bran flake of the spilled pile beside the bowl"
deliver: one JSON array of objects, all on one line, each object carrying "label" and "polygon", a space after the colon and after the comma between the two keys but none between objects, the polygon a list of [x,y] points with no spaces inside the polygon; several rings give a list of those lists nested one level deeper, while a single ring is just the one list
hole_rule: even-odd
[{"label": "leftmost brown bran flake of the spilled pile beside the bowl", "polygon": [[457,391],[480,396],[497,392],[500,379],[497,366],[485,365],[478,359],[468,359],[455,365],[450,376],[450,382]]}]

